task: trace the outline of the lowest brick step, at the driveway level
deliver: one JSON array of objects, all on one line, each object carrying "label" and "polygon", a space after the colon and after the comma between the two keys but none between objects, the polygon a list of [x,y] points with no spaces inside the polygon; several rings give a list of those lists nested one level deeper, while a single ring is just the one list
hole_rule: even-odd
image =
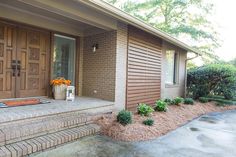
[{"label": "lowest brick step, at the driveway level", "polygon": [[32,153],[56,148],[61,144],[75,141],[81,137],[99,133],[100,127],[96,124],[70,128],[51,134],[7,144],[0,147],[0,157],[24,157]]}]

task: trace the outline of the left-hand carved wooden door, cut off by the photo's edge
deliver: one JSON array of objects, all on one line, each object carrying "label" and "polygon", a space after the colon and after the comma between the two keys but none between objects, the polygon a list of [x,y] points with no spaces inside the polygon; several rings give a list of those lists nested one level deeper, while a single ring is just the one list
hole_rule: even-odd
[{"label": "left-hand carved wooden door, cut off by the photo's edge", "polygon": [[12,60],[16,59],[16,28],[0,23],[0,99],[15,97]]}]

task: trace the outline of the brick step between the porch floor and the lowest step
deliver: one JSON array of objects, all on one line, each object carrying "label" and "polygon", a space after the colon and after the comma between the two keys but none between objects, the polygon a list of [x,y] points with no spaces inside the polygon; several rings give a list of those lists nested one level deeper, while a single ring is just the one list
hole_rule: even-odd
[{"label": "brick step between the porch floor and the lowest step", "polygon": [[89,123],[92,115],[72,113],[0,124],[0,146]]}]

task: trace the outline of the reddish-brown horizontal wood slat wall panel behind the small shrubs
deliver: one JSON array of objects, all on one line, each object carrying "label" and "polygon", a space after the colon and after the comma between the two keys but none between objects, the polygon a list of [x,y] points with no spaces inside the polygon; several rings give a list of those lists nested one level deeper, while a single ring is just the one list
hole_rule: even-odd
[{"label": "reddish-brown horizontal wood slat wall panel behind the small shrubs", "polygon": [[161,93],[162,40],[129,26],[126,109],[153,105]]}]

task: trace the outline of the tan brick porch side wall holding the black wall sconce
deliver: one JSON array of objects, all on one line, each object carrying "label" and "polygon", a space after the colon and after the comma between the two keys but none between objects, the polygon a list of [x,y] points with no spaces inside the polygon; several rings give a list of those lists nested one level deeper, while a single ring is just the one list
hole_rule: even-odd
[{"label": "tan brick porch side wall holding the black wall sconce", "polygon": [[[116,31],[84,37],[82,95],[115,100]],[[92,45],[98,44],[96,52]]]}]

